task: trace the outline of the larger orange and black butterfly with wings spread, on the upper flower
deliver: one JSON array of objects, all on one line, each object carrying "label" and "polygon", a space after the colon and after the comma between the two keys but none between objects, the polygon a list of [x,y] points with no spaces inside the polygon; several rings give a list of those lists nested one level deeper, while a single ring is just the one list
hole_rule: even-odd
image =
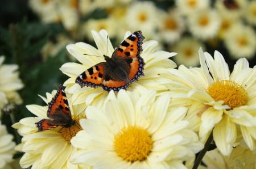
[{"label": "larger orange and black butterfly with wings spread, on the upper flower", "polygon": [[119,91],[138,80],[143,74],[144,61],[140,57],[144,36],[141,31],[132,33],[114,50],[112,57],[104,55],[106,62],[85,70],[76,78],[81,87],[102,87],[103,90]]}]

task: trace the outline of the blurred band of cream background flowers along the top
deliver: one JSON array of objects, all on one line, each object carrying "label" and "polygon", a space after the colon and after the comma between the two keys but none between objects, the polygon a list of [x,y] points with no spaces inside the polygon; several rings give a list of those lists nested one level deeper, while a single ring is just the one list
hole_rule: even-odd
[{"label": "blurred band of cream background flowers along the top", "polygon": [[[106,29],[110,37],[118,40],[122,40],[127,29],[141,30],[147,40],[159,41],[160,48],[179,53],[179,57],[174,58],[179,65],[198,66],[199,47],[214,49],[222,48],[223,44],[233,59],[253,58],[255,54],[254,1],[217,0],[212,3],[209,0],[176,0],[169,9],[162,9],[158,3],[150,1],[132,0],[30,2],[43,22],[62,23],[73,39],[80,41],[92,41],[92,29]],[[104,14],[91,17],[99,11]],[[63,47],[64,43],[61,45]]]}]

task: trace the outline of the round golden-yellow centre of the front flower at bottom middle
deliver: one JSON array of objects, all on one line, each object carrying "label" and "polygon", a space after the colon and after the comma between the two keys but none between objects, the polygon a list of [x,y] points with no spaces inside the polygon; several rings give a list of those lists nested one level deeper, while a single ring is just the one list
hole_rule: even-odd
[{"label": "round golden-yellow centre of the front flower at bottom middle", "polygon": [[152,150],[152,138],[147,130],[138,126],[123,128],[114,137],[114,149],[127,162],[143,161]]}]

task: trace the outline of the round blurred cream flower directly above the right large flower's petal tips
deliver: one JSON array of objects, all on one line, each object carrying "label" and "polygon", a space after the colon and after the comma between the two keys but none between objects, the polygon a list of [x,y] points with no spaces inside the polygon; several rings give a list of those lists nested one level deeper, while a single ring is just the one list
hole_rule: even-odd
[{"label": "round blurred cream flower directly above the right large flower's petal tips", "polygon": [[199,10],[188,17],[188,28],[193,36],[206,40],[217,35],[221,18],[215,10]]}]

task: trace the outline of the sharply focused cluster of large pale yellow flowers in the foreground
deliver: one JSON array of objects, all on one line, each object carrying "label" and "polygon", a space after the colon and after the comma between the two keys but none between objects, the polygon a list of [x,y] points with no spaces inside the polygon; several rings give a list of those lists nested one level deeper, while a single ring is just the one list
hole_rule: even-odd
[{"label": "sharply focused cluster of large pale yellow flowers in the foreground", "polygon": [[217,149],[208,151],[201,168],[255,165],[256,67],[246,58],[230,73],[221,53],[212,57],[200,49],[200,68],[175,69],[168,58],[176,53],[158,51],[157,41],[149,40],[142,45],[144,76],[126,90],[107,92],[75,83],[104,61],[94,56],[114,52],[104,29],[92,35],[97,48],[67,46],[81,64],[61,66],[69,77],[65,90],[40,96],[47,105],[27,105],[35,117],[13,125],[23,136],[17,148],[25,153],[22,168],[191,168],[209,143]]}]

